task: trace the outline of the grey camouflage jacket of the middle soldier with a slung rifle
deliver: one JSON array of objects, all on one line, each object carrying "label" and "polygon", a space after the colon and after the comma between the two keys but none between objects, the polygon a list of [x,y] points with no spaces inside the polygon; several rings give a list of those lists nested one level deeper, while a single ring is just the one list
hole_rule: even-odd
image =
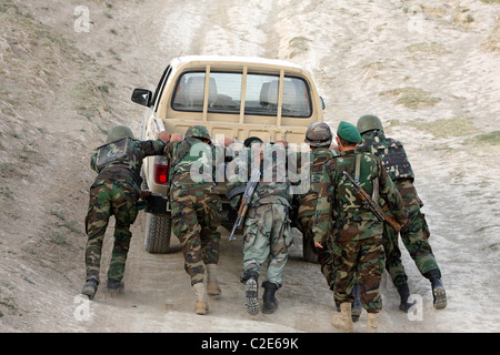
[{"label": "grey camouflage jacket of the middle soldier with a slung rifle", "polygon": [[[280,144],[264,144],[264,149],[258,150],[243,148],[231,162],[231,169],[227,170],[228,187],[246,184],[253,168],[260,170],[260,181],[253,192],[251,207],[266,203],[280,203],[291,205],[290,180],[287,172],[287,150]],[[260,152],[263,156],[259,160]],[[236,175],[236,176],[234,176]]]}]

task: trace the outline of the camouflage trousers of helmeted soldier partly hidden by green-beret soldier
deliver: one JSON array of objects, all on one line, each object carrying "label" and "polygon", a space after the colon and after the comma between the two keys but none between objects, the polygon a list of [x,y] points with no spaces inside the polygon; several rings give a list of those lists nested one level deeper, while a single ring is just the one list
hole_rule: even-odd
[{"label": "camouflage trousers of helmeted soldier partly hidden by green-beret soldier", "polygon": [[336,285],[336,273],[338,265],[336,264],[338,257],[334,256],[334,252],[331,244],[331,239],[323,244],[323,248],[314,246],[314,235],[312,233],[312,226],[314,224],[314,215],[302,215],[299,209],[299,223],[298,229],[302,233],[302,237],[306,239],[304,243],[312,244],[311,247],[318,255],[318,262],[320,263],[321,273],[327,281],[330,290],[333,291]]}]

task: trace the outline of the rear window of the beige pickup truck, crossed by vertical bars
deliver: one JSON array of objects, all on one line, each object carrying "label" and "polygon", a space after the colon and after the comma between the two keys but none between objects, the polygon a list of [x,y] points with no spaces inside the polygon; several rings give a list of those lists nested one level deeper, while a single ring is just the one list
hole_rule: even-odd
[{"label": "rear window of the beige pickup truck, crossed by vertical bars", "polygon": [[[206,72],[186,72],[177,83],[172,108],[178,111],[203,111]],[[210,72],[208,112],[240,113],[243,74]],[[279,75],[248,73],[244,113],[278,114]],[[284,77],[282,116],[311,116],[311,102],[307,82],[298,77]]]}]

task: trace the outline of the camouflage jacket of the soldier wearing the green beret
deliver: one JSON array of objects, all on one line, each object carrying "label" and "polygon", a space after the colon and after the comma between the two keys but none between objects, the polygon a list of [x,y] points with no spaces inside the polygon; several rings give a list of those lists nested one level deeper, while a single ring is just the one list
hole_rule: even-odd
[{"label": "camouflage jacket of the soldier wearing the green beret", "polygon": [[344,171],[354,180],[358,178],[359,185],[370,195],[379,186],[379,196],[388,203],[396,219],[404,222],[401,195],[380,160],[370,153],[351,150],[324,164],[312,229],[314,241],[321,243],[333,229],[339,231],[338,237],[341,240],[370,237],[371,226],[382,223],[356,194],[351,183],[342,174]]}]

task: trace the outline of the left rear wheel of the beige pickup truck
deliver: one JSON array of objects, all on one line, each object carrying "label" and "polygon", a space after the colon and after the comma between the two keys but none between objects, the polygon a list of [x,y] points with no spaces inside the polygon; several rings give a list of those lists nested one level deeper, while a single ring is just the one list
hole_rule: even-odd
[{"label": "left rear wheel of the beige pickup truck", "polygon": [[164,254],[170,251],[172,217],[146,213],[144,250],[148,253]]}]

